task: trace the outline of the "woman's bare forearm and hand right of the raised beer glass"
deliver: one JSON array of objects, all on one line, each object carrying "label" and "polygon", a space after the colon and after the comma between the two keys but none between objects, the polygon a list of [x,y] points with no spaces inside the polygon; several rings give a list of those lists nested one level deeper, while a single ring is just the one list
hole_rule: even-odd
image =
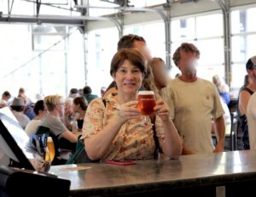
[{"label": "woman's bare forearm and hand right of the raised beer glass", "polygon": [[166,103],[159,99],[154,108],[156,115],[160,116],[164,130],[164,140],[160,140],[160,145],[165,155],[177,157],[182,154],[182,141],[177,133],[177,129],[172,122],[170,111]]}]

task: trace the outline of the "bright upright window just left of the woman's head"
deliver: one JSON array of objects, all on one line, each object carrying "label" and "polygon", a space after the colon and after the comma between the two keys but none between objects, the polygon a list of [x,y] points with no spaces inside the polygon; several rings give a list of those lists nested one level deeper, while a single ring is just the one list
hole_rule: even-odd
[{"label": "bright upright window just left of the woman's head", "polygon": [[[97,41],[96,41],[97,40]],[[106,28],[88,32],[87,47],[87,85],[92,92],[100,94],[101,87],[113,82],[110,76],[110,63],[117,50],[119,34],[116,28]],[[97,76],[97,77],[95,77]]]}]

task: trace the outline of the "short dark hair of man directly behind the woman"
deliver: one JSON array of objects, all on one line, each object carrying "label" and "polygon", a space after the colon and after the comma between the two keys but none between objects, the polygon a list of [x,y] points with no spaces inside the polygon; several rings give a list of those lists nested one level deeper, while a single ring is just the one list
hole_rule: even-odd
[{"label": "short dark hair of man directly behind the woman", "polygon": [[135,48],[134,41],[146,42],[143,37],[139,37],[135,34],[128,34],[119,39],[118,48],[117,48],[118,51],[122,48]]}]

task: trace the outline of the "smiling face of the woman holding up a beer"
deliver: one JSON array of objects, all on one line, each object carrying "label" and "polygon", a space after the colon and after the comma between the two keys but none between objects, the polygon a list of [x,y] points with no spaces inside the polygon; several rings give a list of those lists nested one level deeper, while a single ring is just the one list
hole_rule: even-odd
[{"label": "smiling face of the woman holding up a beer", "polygon": [[143,73],[126,59],[114,73],[113,80],[116,82],[119,93],[134,94],[142,85]]}]

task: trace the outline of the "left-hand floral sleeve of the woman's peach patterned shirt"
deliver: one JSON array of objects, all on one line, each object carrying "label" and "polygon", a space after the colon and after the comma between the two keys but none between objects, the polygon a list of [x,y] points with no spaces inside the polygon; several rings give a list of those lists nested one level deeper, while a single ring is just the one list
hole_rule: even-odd
[{"label": "left-hand floral sleeve of the woman's peach patterned shirt", "polygon": [[89,138],[102,130],[104,110],[105,107],[102,103],[102,98],[96,98],[90,102],[84,117],[81,139]]}]

